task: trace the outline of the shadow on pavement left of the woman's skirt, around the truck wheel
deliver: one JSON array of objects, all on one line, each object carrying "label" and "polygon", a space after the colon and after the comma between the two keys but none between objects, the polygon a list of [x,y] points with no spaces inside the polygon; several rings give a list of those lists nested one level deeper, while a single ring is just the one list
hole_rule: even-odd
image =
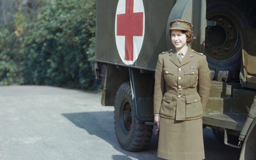
[{"label": "shadow on pavement left of the woman's skirt, around the truck wheel", "polygon": [[156,156],[158,137],[155,137],[154,135],[152,136],[150,144],[145,151],[129,152],[120,147],[114,130],[113,111],[82,112],[62,115],[77,127],[85,129],[91,135],[100,137],[111,144],[114,149],[124,154],[112,155],[112,160],[132,160],[132,158],[139,160],[161,160]]}]

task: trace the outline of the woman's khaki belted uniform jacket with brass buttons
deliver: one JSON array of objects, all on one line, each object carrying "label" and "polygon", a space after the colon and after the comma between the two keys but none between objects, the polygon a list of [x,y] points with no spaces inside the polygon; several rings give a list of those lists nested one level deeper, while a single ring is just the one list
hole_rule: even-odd
[{"label": "woman's khaki belted uniform jacket with brass buttons", "polygon": [[210,70],[202,53],[188,48],[181,63],[175,49],[160,54],[155,70],[154,114],[176,120],[201,118],[210,84]]}]

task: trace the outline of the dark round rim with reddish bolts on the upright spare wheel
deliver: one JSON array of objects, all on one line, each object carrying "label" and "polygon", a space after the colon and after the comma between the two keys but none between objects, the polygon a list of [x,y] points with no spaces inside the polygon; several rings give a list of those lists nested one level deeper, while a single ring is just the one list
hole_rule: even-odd
[{"label": "dark round rim with reddish bolts on the upright spare wheel", "polygon": [[206,27],[205,52],[216,60],[229,59],[240,47],[240,25],[227,12],[213,12],[208,21],[215,21],[215,26]]}]

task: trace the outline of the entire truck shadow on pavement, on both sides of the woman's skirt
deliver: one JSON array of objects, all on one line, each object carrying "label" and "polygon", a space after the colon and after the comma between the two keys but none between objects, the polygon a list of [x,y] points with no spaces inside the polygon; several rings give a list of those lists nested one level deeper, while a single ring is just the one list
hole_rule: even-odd
[{"label": "entire truck shadow on pavement, on both sides of the woman's skirt", "polygon": [[[104,112],[82,112],[62,114],[68,120],[73,122],[77,127],[85,129],[89,134],[96,135],[107,143],[111,144],[114,149],[124,155],[112,155],[112,160],[161,160],[156,156],[158,137],[152,136],[150,144],[145,151],[128,152],[123,150],[116,138],[114,130],[114,119],[112,111]],[[154,127],[156,129],[156,127]],[[207,127],[203,129],[204,150],[206,160],[238,160],[240,149],[232,148],[220,143],[213,135],[212,129]],[[131,158],[130,158],[131,157]]]}]

